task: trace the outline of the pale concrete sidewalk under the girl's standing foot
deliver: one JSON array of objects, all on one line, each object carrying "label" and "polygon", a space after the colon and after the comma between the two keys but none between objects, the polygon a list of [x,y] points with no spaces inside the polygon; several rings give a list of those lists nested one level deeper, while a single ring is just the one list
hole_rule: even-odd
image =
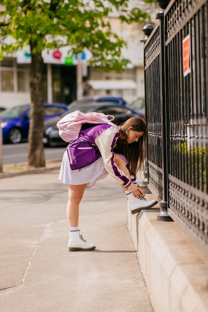
[{"label": "pale concrete sidewalk under the girl's standing foot", "polygon": [[0,179],[1,312],[152,312],[111,177],[86,190],[80,229],[95,251],[68,252],[59,170]]}]

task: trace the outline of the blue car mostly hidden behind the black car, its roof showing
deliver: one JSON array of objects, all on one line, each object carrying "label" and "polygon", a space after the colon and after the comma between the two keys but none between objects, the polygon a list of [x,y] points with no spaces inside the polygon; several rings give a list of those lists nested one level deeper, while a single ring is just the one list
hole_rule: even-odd
[{"label": "blue car mostly hidden behind the black car, its roof showing", "polygon": [[82,106],[83,104],[86,105],[91,105],[91,103],[100,103],[100,102],[110,102],[110,103],[114,103],[117,105],[127,105],[126,101],[123,100],[123,98],[119,97],[119,96],[114,96],[114,95],[95,95],[95,96],[85,96],[82,100],[76,100],[74,102],[72,102],[71,104],[69,104],[69,110],[71,112],[74,112],[76,110],[79,110],[79,107]]}]

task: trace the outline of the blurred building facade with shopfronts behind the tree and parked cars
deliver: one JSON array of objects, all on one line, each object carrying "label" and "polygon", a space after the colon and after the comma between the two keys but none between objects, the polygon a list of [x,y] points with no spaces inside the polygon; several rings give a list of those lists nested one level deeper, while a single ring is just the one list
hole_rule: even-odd
[{"label": "blurred building facade with shopfronts behind the tree and parked cars", "polygon": [[[146,9],[151,12],[151,7]],[[122,56],[130,61],[122,72],[103,72],[88,66],[88,53],[81,58],[83,81],[82,95],[112,94],[123,97],[128,103],[144,97],[142,23],[130,25],[112,14],[107,17],[111,29],[127,42]],[[30,51],[25,48],[0,61],[0,106],[9,108],[30,102],[29,71]],[[77,99],[78,60],[66,56],[66,47],[42,53],[44,67],[44,101],[70,104]],[[63,60],[67,59],[66,61]],[[110,80],[110,83],[109,83]],[[122,82],[121,82],[122,81]]]}]

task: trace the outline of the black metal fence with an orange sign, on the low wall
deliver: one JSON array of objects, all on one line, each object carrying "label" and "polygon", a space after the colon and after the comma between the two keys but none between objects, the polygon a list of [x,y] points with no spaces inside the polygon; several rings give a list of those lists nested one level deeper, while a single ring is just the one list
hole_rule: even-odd
[{"label": "black metal fence with an orange sign, on the low wall", "polygon": [[208,0],[157,17],[144,44],[148,187],[208,246]]}]

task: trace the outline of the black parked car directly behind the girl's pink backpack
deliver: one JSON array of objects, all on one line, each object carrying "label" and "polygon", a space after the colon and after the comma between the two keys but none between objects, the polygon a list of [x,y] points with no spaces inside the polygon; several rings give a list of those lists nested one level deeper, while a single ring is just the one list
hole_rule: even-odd
[{"label": "black parked car directly behind the girl's pink backpack", "polygon": [[[134,117],[134,116],[142,117],[139,113],[133,111],[132,109],[128,107],[115,105],[113,103],[91,103],[91,106],[89,104],[87,105],[83,104],[82,106],[80,106],[79,111],[83,113],[98,112],[98,113],[104,113],[105,115],[108,115],[108,114],[113,115],[115,117],[115,119],[113,120],[113,123],[117,125],[120,125],[121,123],[123,123],[130,117]],[[64,113],[62,117],[64,117],[68,113]],[[44,134],[43,134],[44,145],[46,146],[67,146],[68,145],[59,137],[59,130],[56,127],[57,122],[61,118],[54,118],[52,120],[44,122]]]}]

